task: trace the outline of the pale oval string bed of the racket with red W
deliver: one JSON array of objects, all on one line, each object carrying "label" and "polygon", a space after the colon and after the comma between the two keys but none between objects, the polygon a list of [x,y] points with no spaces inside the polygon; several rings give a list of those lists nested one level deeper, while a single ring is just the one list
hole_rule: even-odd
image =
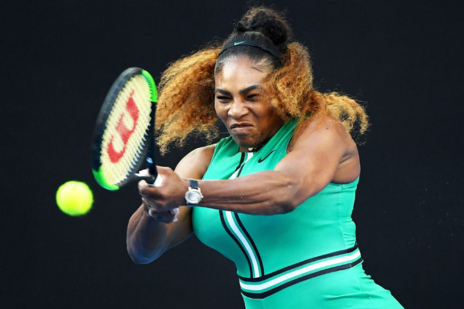
[{"label": "pale oval string bed of the racket with red W", "polygon": [[151,125],[151,90],[145,78],[133,76],[119,92],[102,136],[100,162],[110,184],[120,184],[141,161]]}]

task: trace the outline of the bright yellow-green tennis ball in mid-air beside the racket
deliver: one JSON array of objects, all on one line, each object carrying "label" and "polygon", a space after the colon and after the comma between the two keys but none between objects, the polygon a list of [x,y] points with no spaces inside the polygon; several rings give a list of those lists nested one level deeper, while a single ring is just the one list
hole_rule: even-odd
[{"label": "bright yellow-green tennis ball in mid-air beside the racket", "polygon": [[84,182],[65,182],[56,191],[56,204],[67,215],[84,215],[92,203],[92,191]]}]

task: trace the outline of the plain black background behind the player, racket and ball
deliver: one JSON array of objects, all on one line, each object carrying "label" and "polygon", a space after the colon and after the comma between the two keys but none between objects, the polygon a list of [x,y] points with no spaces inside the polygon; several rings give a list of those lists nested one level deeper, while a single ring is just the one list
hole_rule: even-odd
[{"label": "plain black background behind the player, racket and ball", "polygon": [[[14,4],[12,4],[14,3]],[[288,9],[316,87],[366,103],[353,218],[364,269],[406,308],[458,308],[463,285],[463,32],[453,1],[266,1]],[[457,2],[456,2],[457,3]],[[89,143],[123,69],[159,80],[224,38],[244,1],[15,1],[3,7],[2,308],[242,308],[233,263],[195,236],[149,265],[125,249],[136,185],[94,182]],[[160,164],[174,167],[186,152]],[[55,204],[71,179],[95,203]],[[460,305],[461,303],[461,305]]]}]

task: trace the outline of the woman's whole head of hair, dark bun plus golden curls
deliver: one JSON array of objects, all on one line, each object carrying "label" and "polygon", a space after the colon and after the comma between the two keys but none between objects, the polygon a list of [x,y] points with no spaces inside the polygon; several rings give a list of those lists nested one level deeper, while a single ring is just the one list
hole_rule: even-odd
[{"label": "woman's whole head of hair, dark bun plus golden curls", "polygon": [[[262,19],[265,21],[260,21]],[[333,116],[341,121],[352,136],[364,134],[368,128],[368,116],[361,105],[348,96],[335,92],[322,94],[314,89],[307,48],[298,42],[286,43],[291,29],[280,13],[269,8],[251,8],[241,19],[247,26],[264,25],[253,29],[255,40],[256,37],[264,37],[262,33],[276,33],[272,28],[269,30],[269,20],[272,21],[270,27],[280,30],[279,37],[271,38],[271,41],[282,55],[282,63],[277,64],[276,59],[262,51],[258,51],[261,54],[257,57],[258,48],[249,46],[244,46],[239,51],[239,56],[242,53],[253,61],[267,61],[267,67],[274,68],[269,73],[267,85],[272,98],[271,106],[276,109],[280,118],[283,121],[300,118],[300,125],[304,125],[314,118]],[[242,34],[234,30],[222,46],[233,42],[240,35]],[[265,39],[267,38],[262,39],[262,42],[266,43]],[[215,69],[217,73],[217,64],[231,58],[231,55],[221,55],[222,60],[218,61],[222,46],[213,44],[181,58],[170,64],[161,76],[156,127],[160,132],[157,143],[162,153],[166,153],[171,143],[184,145],[186,137],[192,133],[204,134],[208,140],[217,136],[218,117],[214,109]]]}]

